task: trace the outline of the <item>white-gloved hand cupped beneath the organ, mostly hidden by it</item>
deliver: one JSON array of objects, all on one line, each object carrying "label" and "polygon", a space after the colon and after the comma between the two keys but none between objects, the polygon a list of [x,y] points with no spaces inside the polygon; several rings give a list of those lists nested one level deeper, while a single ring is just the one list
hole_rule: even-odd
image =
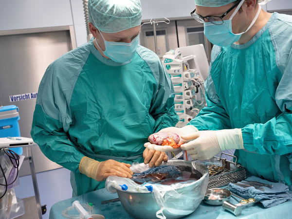
[{"label": "white-gloved hand cupped beneath the organ, mostly hidden by it", "polygon": [[[196,131],[198,131],[198,129],[194,126],[185,126],[183,128],[177,128],[177,127],[163,128],[159,132],[172,132],[172,133],[179,135],[181,138],[182,135],[191,134],[191,133],[196,132]],[[186,142],[187,142],[186,140],[183,140],[181,138],[180,143],[186,143]],[[173,148],[172,146],[154,145],[154,144],[151,144],[150,142],[145,143],[144,146],[150,150],[158,150],[158,151],[164,151],[164,152],[177,151],[180,149],[180,148]]]}]

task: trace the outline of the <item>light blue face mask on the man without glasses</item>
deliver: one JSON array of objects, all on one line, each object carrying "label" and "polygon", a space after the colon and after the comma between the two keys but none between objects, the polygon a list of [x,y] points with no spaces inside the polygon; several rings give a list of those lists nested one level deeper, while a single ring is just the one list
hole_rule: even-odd
[{"label": "light blue face mask on the man without glasses", "polygon": [[[106,41],[101,32],[99,33],[103,38],[106,47],[106,50],[103,51],[103,54],[108,56],[111,60],[119,63],[124,63],[128,62],[134,57],[139,43],[139,35],[135,37],[130,43],[124,43]],[[101,49],[96,39],[95,42],[99,49]]]}]

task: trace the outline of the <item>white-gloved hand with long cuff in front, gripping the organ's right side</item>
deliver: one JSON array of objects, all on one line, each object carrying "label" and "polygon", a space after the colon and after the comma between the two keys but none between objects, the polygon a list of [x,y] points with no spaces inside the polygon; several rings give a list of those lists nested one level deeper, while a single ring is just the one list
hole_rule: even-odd
[{"label": "white-gloved hand with long cuff in front, gripping the organ's right side", "polygon": [[192,140],[183,144],[181,148],[186,150],[191,158],[198,160],[209,160],[223,150],[244,149],[240,128],[198,131],[183,135],[182,139]]}]

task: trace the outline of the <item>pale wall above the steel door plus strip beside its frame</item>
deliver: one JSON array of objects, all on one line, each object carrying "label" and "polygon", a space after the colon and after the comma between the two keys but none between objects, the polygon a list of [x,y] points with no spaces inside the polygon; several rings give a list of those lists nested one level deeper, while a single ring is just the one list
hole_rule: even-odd
[{"label": "pale wall above the steel door plus strip beside its frame", "polygon": [[[72,4],[72,11],[71,11]],[[0,0],[0,31],[73,25],[77,46],[86,43],[82,0]]]}]

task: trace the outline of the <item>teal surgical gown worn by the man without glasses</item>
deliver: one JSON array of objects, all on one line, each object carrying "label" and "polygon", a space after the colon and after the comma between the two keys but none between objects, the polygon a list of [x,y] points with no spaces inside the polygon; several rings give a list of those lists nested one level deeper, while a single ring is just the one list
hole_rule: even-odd
[{"label": "teal surgical gown worn by the man without glasses", "polygon": [[31,135],[46,157],[72,171],[75,196],[105,184],[80,173],[83,156],[143,162],[147,137],[178,121],[173,85],[157,55],[139,46],[131,61],[116,63],[104,58],[91,39],[46,70]]}]

